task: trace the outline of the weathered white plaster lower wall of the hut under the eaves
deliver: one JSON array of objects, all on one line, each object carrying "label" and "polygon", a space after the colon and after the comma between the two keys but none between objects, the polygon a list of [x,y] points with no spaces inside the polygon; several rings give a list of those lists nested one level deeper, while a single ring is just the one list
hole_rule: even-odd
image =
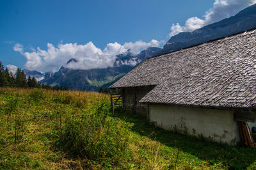
[{"label": "weathered white plaster lower wall of the hut under the eaves", "polygon": [[239,141],[233,112],[219,109],[149,105],[149,118],[157,127],[183,134],[204,135],[214,141],[235,144]]}]

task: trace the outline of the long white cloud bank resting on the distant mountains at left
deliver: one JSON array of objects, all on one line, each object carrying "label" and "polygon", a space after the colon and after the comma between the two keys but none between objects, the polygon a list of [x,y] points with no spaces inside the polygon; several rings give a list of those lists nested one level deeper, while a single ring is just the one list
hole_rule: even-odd
[{"label": "long white cloud bank resting on the distant mountains at left", "polygon": [[[92,68],[107,68],[113,66],[116,55],[121,54],[128,49],[135,55],[141,50],[148,47],[159,47],[163,42],[151,40],[150,42],[128,42],[121,45],[120,43],[108,43],[106,47],[101,50],[92,42],[84,45],[77,43],[60,43],[54,47],[51,43],[47,43],[47,50],[42,50],[40,47],[33,49],[32,52],[24,52],[23,46],[19,43],[13,47],[13,50],[20,52],[27,59],[26,68],[29,70],[38,70],[41,72],[56,72],[60,66],[67,66],[73,69],[88,70]],[[70,58],[77,59],[76,62],[71,62],[66,65]]]}]

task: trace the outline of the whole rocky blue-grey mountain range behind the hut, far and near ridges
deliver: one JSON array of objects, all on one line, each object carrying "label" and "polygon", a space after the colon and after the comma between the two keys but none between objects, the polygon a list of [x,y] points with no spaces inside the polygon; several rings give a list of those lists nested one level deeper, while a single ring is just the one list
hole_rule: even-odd
[{"label": "whole rocky blue-grey mountain range behind the hut, far and near ridges", "polygon": [[[134,66],[147,58],[184,49],[193,45],[204,43],[216,38],[234,35],[241,31],[247,31],[256,27],[256,4],[245,8],[236,15],[215,22],[193,32],[182,32],[172,36],[163,48],[150,47],[143,50],[138,55],[132,54],[127,50],[123,54],[116,56],[115,63],[108,68],[94,68],[90,70],[75,70],[61,66],[58,72],[41,73],[35,70],[24,70],[24,73],[35,77],[41,84],[51,86],[68,86],[69,89],[79,89],[86,91],[98,91],[100,87],[108,87],[120,79],[125,73],[129,72]],[[67,64],[77,62],[77,59],[71,58]]]}]

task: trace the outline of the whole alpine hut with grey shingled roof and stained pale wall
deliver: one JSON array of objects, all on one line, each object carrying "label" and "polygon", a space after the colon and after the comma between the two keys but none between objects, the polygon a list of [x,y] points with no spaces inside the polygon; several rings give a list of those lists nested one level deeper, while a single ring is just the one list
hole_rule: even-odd
[{"label": "whole alpine hut with grey shingled roof and stained pale wall", "polygon": [[[157,127],[234,144],[256,126],[256,29],[148,58],[111,88]],[[254,124],[253,124],[254,123]]]}]

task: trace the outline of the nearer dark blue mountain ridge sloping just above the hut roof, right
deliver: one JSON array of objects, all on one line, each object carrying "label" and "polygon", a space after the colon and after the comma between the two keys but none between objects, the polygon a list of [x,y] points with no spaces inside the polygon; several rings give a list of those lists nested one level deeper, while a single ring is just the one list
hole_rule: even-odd
[{"label": "nearer dark blue mountain ridge sloping just above the hut roof, right", "polygon": [[236,15],[214,22],[192,32],[182,32],[172,36],[159,54],[183,49],[217,38],[234,35],[256,27],[256,4],[241,10]]}]

